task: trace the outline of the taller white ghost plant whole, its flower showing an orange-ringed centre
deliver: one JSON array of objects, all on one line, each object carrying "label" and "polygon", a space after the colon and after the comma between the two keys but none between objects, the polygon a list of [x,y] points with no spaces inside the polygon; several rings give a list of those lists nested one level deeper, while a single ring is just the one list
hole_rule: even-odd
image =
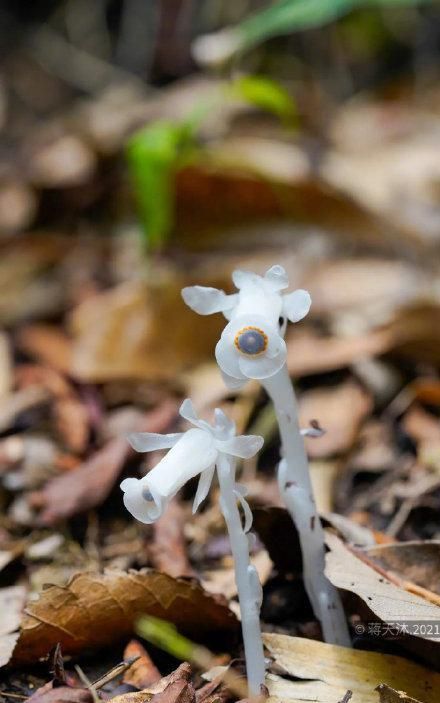
[{"label": "taller white ghost plant whole, its flower showing an orange-ringed centre", "polygon": [[287,321],[298,322],[310,309],[305,290],[285,294],[289,286],[282,266],[264,276],[234,271],[237,293],[192,286],[182,296],[201,315],[222,312],[228,320],[215,349],[226,385],[241,388],[257,379],[273,401],[283,458],[278,484],[297,527],[304,565],[304,583],[327,642],[349,646],[349,634],[337,590],[324,575],[324,533],[316,510],[296,399],[286,365],[284,333]]}]

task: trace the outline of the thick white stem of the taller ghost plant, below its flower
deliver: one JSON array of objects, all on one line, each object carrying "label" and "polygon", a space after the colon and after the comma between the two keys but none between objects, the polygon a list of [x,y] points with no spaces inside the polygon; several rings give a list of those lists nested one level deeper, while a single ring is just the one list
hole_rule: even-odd
[{"label": "thick white stem of the taller ghost plant, below its flower", "polygon": [[284,366],[262,385],[271,397],[280,428],[283,459],[278,468],[281,495],[298,530],[304,585],[326,642],[350,647],[350,635],[337,589],[324,574],[324,531],[316,510],[295,394]]}]

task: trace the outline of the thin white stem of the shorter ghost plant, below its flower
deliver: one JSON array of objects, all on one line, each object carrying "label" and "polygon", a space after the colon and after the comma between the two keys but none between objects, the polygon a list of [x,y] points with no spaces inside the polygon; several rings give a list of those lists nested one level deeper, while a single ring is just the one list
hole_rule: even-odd
[{"label": "thin white stem of the shorter ghost plant, below its flower", "polygon": [[220,505],[228,528],[232,556],[234,557],[249,693],[252,696],[258,696],[265,678],[264,651],[260,629],[262,590],[256,569],[249,560],[249,542],[242,527],[234,494],[235,467],[233,461],[225,454],[219,454],[217,473],[220,484]]}]

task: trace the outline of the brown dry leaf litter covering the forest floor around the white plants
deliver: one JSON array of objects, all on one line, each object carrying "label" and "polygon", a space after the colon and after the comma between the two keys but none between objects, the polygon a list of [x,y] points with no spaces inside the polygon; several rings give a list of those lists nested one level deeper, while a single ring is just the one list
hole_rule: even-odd
[{"label": "brown dry leaf litter covering the forest floor around the white plants", "polygon": [[[26,60],[41,85],[60,90]],[[0,190],[10,208],[0,217],[0,665],[9,663],[0,695],[233,700],[221,680],[197,688],[187,664],[176,669],[131,639],[136,617],[152,614],[223,652],[219,663],[241,655],[215,498],[193,517],[190,487],[151,528],[129,521],[117,489],[149,469],[125,434],[179,430],[176,409],[190,394],[202,413],[221,405],[240,431],[265,434],[260,461],[241,470],[261,540],[252,560],[272,633],[272,698],[434,703],[438,675],[420,662],[437,666],[438,637],[420,634],[416,648],[414,637],[371,639],[356,626],[439,621],[435,98],[348,100],[329,110],[319,145],[307,101],[303,139],[224,100],[201,126],[197,158],[175,174],[168,244],[145,263],[121,176],[127,136],[157,118],[186,119],[222,85],[191,78],[152,94],[124,78],[87,99],[71,95],[50,124],[28,116],[20,134],[17,122]],[[318,641],[297,534],[279,506],[266,398],[252,384],[238,396],[225,390],[212,364],[221,321],[180,298],[183,285],[228,289],[232,269],[275,261],[314,301],[288,333],[288,368],[302,422],[326,431],[307,449],[328,577],[361,650]],[[57,643],[67,678],[48,681]]]}]

